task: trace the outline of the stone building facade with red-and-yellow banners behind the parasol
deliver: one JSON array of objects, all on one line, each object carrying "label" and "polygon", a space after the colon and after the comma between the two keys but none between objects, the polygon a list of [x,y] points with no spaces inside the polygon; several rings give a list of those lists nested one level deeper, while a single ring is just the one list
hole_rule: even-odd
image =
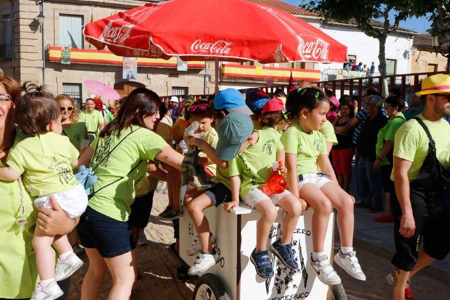
[{"label": "stone building facade with red-and-yellow banners behind the parasol", "polygon": [[[98,52],[84,40],[82,29],[88,22],[143,5],[148,1],[44,0],[44,34],[38,21],[42,7],[40,2],[41,0],[0,0],[0,68],[19,82],[31,80],[41,84],[45,81],[47,89],[52,93],[69,93],[80,102],[91,94],[83,84],[87,79],[104,82],[114,87],[121,95],[140,86],[152,89],[160,96],[214,92],[216,78],[213,62],[206,63],[205,76],[204,62],[188,62],[187,71],[177,71],[176,58],[170,61],[138,60],[136,79],[122,79],[122,58],[114,55],[114,61],[111,61],[107,58],[111,57],[111,53]],[[288,4],[284,6],[281,8],[287,9],[286,11],[290,13],[296,13],[300,9]],[[45,55],[44,71],[42,71],[42,40]],[[60,61],[60,48],[66,45],[71,46],[70,64],[62,64]],[[267,76],[258,74],[261,64],[246,62],[236,65],[236,67],[241,65],[248,74],[244,77],[223,76],[220,89],[231,86],[236,88],[265,86]],[[314,69],[313,63],[267,64],[265,67],[280,68],[276,71],[278,74],[281,68],[284,68],[283,74],[275,78],[275,84],[287,83],[291,68],[296,82],[303,81],[301,75],[310,77],[312,74],[317,77],[315,81],[319,79],[319,75],[316,74],[318,71],[308,74],[306,70]],[[224,68],[222,66],[220,68],[223,72]],[[270,74],[271,71],[267,72]],[[295,74],[298,76],[295,77]]]}]

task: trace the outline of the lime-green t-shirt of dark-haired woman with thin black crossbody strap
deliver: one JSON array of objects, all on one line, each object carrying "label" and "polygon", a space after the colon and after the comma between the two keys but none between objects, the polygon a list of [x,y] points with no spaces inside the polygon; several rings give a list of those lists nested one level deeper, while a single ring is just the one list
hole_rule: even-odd
[{"label": "lime-green t-shirt of dark-haired woman with thin black crossbody strap", "polygon": [[[123,141],[112,150],[120,140]],[[94,150],[90,166],[97,176],[93,191],[97,192],[90,198],[88,206],[113,219],[126,221],[130,213],[129,206],[134,201],[134,181],[145,174],[148,160],[154,160],[154,156],[168,146],[162,137],[137,125],[122,129],[120,136],[116,132],[105,137],[97,136],[90,144]]]}]

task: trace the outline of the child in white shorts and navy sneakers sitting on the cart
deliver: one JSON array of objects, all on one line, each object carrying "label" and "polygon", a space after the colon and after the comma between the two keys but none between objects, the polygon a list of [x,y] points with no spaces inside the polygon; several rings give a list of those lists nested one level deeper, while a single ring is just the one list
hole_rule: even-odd
[{"label": "child in white shorts and navy sneakers sitting on the cart", "polygon": [[237,203],[240,194],[245,204],[261,213],[256,228],[256,247],[250,255],[250,261],[256,273],[265,278],[273,276],[266,243],[278,213],[275,205],[283,207],[287,214],[281,238],[270,244],[269,249],[290,269],[298,268],[291,241],[300,213],[306,208],[304,200],[298,200],[287,190],[269,195],[262,191],[262,186],[272,175],[271,163],[277,160],[284,162],[284,149],[276,131],[267,128],[254,130],[243,142],[237,157],[228,161],[232,201]]}]

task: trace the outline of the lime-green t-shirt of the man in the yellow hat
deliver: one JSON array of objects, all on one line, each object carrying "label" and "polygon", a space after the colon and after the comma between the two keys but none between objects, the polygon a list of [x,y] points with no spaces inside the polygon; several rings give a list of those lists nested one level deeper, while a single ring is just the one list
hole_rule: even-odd
[{"label": "lime-green t-shirt of the man in the yellow hat", "polygon": [[[441,119],[439,123],[433,123],[418,115],[428,127],[436,146],[436,156],[439,162],[446,168],[450,158],[450,124]],[[428,136],[422,126],[414,120],[406,121],[395,133],[393,155],[412,162],[408,170],[409,182],[415,180],[420,167],[428,154]],[[395,163],[393,165],[395,169]],[[390,176],[393,180],[393,171]]]}]

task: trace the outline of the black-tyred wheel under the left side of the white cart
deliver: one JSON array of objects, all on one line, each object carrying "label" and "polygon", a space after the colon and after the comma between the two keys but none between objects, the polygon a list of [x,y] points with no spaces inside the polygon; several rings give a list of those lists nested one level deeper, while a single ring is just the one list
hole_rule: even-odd
[{"label": "black-tyred wheel under the left side of the white cart", "polygon": [[206,273],[198,279],[192,300],[229,300],[229,297],[219,277]]}]

